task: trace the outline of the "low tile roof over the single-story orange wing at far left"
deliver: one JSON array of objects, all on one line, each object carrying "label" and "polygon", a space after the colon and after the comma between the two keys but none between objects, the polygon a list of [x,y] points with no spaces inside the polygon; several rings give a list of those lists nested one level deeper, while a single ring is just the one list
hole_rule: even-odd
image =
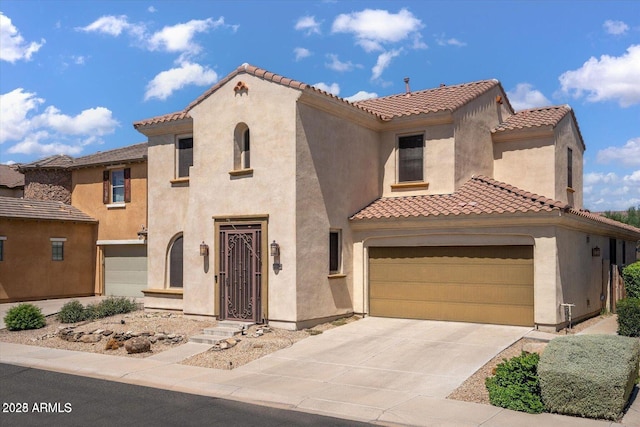
[{"label": "low tile roof over the single-story orange wing at far left", "polygon": [[78,208],[49,200],[0,196],[0,218],[98,222]]}]

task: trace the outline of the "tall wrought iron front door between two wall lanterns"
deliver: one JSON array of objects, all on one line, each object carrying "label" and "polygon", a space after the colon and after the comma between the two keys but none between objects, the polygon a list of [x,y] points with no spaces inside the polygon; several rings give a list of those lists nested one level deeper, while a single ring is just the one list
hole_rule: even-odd
[{"label": "tall wrought iron front door between two wall lanterns", "polygon": [[262,230],[259,224],[220,227],[222,318],[258,322],[262,284]]}]

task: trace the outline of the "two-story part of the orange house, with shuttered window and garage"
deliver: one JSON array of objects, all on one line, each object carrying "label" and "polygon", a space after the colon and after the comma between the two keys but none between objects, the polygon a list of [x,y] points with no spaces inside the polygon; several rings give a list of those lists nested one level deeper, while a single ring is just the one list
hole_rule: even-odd
[{"label": "two-story part of the orange house, with shuttered window and garage", "polygon": [[82,267],[91,272],[92,294],[143,296],[147,285],[146,155],[147,144],[141,143],[78,158],[56,155],[20,166],[25,199],[64,202],[98,223],[91,245],[80,249],[92,255],[92,262]]}]

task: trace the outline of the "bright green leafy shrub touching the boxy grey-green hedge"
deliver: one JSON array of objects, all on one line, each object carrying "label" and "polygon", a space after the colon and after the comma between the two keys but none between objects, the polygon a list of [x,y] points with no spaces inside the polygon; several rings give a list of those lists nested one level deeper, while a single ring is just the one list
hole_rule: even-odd
[{"label": "bright green leafy shrub touching the boxy grey-green hedge", "polygon": [[544,410],[540,398],[537,353],[522,352],[496,367],[496,374],[486,379],[492,405],[514,411],[539,414]]}]

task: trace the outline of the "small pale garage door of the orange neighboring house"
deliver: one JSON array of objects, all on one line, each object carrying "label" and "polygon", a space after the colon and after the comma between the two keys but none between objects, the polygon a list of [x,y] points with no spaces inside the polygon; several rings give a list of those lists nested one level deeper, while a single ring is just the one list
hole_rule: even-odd
[{"label": "small pale garage door of the orange neighboring house", "polygon": [[146,288],[147,245],[105,246],[105,295],[141,298]]}]

